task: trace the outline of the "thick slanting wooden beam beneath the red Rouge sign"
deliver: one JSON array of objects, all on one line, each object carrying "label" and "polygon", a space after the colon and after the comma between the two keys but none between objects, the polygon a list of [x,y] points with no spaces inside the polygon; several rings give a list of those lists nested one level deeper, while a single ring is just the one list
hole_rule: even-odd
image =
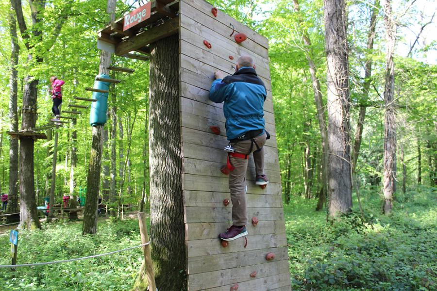
[{"label": "thick slanting wooden beam beneath the red Rouge sign", "polygon": [[153,27],[150,30],[142,32],[134,37],[130,37],[129,40],[122,41],[116,45],[116,54],[124,55],[135,49],[143,48],[148,44],[151,44],[157,40],[170,36],[178,32],[179,28],[179,16],[174,17],[167,22]]}]

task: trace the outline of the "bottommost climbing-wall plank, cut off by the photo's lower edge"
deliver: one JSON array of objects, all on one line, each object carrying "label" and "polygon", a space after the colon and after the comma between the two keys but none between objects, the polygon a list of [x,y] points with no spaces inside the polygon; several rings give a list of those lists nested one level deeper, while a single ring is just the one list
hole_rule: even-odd
[{"label": "bottommost climbing-wall plank, cut off by the photo's lower edge", "polygon": [[[284,270],[283,270],[284,272]],[[291,291],[290,273],[282,273],[279,275],[272,275],[264,278],[247,278],[248,281],[239,282],[238,290],[250,291],[265,291],[265,290],[280,290]],[[250,280],[249,280],[250,279]],[[229,291],[234,284],[223,285],[204,291]],[[282,286],[282,287],[281,287]],[[274,289],[272,289],[274,288]]]}]

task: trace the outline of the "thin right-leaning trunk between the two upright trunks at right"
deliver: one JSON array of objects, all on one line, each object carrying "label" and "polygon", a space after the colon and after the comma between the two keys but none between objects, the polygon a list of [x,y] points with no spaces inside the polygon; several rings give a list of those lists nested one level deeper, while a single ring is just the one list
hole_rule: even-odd
[{"label": "thin right-leaning trunk between the two upright trunks at right", "polygon": [[[370,15],[369,33],[367,36],[368,53],[371,53],[371,51],[373,50],[373,40],[375,39],[375,29],[376,29],[376,16],[378,15],[379,12],[379,0],[375,0],[375,3],[371,8],[371,10],[372,13]],[[367,56],[366,64],[364,65],[364,84],[363,84],[364,100],[367,100],[369,98],[371,77],[372,77],[372,56],[370,55]],[[353,143],[352,174],[355,173],[356,162],[358,161],[358,156],[360,153],[365,117],[366,117],[366,106],[360,106],[360,113],[358,115],[358,123],[356,126],[355,139]]]}]

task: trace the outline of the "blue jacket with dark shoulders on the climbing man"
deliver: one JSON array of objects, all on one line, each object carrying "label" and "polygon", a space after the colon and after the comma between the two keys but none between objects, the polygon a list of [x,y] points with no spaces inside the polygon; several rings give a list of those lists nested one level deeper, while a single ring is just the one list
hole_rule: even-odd
[{"label": "blue jacket with dark shoulders on the climbing man", "polygon": [[250,130],[264,129],[266,97],[266,87],[252,67],[242,67],[232,76],[215,80],[209,90],[211,101],[224,101],[228,140]]}]

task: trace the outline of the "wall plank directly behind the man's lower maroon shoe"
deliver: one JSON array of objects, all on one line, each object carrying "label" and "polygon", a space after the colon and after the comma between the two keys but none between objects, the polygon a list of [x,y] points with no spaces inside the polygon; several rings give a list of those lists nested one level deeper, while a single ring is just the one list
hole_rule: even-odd
[{"label": "wall plank directly behind the man's lower maroon shoe", "polygon": [[[252,217],[248,217],[247,226],[250,235],[265,234],[285,234],[286,228],[284,221],[260,221],[256,227],[252,226]],[[204,223],[187,223],[185,224],[186,240],[206,240],[217,239],[220,232],[232,225],[231,222],[204,222]],[[221,254],[220,254],[221,255]]]}]

